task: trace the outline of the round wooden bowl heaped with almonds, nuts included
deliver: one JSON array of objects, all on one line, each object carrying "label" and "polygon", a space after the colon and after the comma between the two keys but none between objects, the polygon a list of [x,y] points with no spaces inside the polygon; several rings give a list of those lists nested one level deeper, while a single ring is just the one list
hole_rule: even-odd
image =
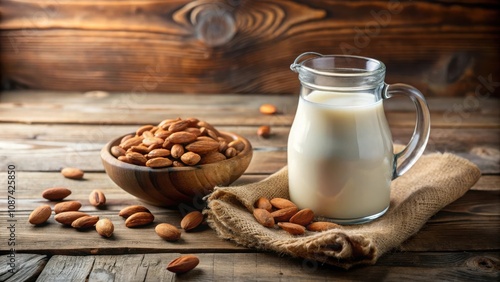
[{"label": "round wooden bowl heaped with almonds, nuts included", "polygon": [[156,206],[193,204],[215,186],[238,179],[252,159],[250,142],[196,118],[140,126],[101,150],[108,176],[120,188]]}]

